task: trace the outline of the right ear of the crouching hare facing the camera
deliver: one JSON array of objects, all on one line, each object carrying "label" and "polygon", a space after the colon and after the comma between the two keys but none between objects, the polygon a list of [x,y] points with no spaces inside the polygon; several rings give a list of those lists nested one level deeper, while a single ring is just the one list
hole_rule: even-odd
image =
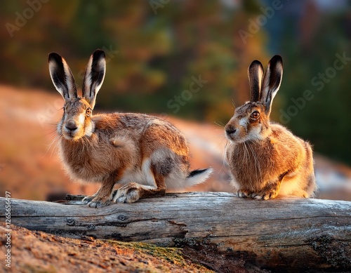
[{"label": "right ear of the crouching hare facing the camera", "polygon": [[105,52],[97,49],[89,59],[83,80],[83,97],[89,102],[91,109],[95,106],[96,95],[104,81],[105,69]]}]

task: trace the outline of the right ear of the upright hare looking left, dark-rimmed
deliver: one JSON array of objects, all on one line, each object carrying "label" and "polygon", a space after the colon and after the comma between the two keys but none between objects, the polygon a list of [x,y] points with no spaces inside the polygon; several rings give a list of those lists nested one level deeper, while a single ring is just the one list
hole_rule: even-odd
[{"label": "right ear of the upright hare looking left, dark-rimmed", "polygon": [[275,55],[268,62],[267,71],[263,78],[263,87],[260,101],[265,106],[265,113],[270,114],[274,96],[277,95],[283,76],[283,60],[280,55]]}]

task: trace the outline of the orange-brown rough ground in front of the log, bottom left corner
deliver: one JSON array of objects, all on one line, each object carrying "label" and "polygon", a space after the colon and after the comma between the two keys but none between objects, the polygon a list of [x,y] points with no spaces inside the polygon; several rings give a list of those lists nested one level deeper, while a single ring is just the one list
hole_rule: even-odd
[{"label": "orange-brown rough ground in front of the log, bottom left corner", "polygon": [[11,267],[6,267],[7,232],[0,223],[1,272],[213,272],[185,260],[179,248],[67,239],[13,225]]}]

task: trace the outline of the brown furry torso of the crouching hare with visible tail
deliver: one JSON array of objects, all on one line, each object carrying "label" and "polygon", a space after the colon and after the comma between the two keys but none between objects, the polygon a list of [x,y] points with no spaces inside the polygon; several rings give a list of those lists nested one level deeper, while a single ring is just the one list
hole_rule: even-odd
[{"label": "brown furry torso of the crouching hare with visible tail", "polygon": [[166,184],[177,179],[181,183],[188,175],[187,142],[167,121],[118,113],[96,115],[91,120],[91,136],[77,141],[61,138],[62,162],[74,180],[101,182],[115,174],[122,183],[154,186],[151,168],[166,178]]}]

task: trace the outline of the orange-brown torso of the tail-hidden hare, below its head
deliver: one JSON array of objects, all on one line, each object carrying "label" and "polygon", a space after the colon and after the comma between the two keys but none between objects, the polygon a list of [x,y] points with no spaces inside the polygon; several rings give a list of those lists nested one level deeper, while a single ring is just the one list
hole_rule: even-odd
[{"label": "orange-brown torso of the tail-hidden hare, below its head", "polygon": [[232,184],[257,192],[281,175],[298,171],[306,160],[305,142],[279,124],[263,140],[229,144]]}]

